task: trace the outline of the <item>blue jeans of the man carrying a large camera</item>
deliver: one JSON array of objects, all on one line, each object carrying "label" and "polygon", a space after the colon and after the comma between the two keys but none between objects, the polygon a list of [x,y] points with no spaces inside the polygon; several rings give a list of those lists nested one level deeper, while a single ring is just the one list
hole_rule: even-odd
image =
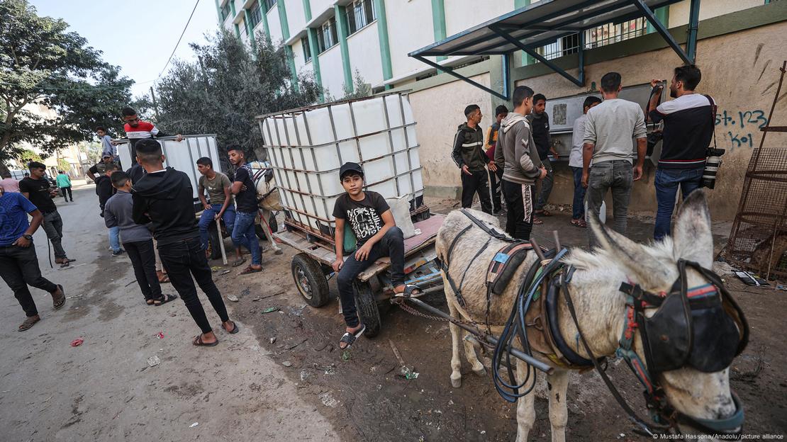
[{"label": "blue jeans of the man carrying a large camera", "polygon": [[656,228],[653,230],[653,238],[656,241],[670,234],[672,210],[675,207],[678,186],[681,188],[682,199],[685,200],[689,193],[700,187],[703,171],[704,168],[659,169],[656,171],[656,201],[659,204],[659,209],[656,212]]}]

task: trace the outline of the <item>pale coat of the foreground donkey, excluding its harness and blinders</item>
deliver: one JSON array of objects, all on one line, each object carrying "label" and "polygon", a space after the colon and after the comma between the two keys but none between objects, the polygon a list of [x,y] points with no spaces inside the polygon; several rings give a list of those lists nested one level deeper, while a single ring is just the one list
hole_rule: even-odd
[{"label": "pale coat of the foreground donkey, excluding its harness and blinders", "polygon": [[[496,218],[482,212],[471,211],[477,219],[490,227],[500,230]],[[591,220],[591,227],[597,238],[600,238],[600,247],[593,252],[582,249],[573,249],[564,260],[565,263],[576,267],[568,290],[575,304],[577,319],[589,344],[589,348],[596,357],[614,356],[619,346],[621,331],[626,326],[626,297],[619,292],[621,282],[637,283],[642,289],[652,293],[668,292],[678,278],[678,260],[689,260],[699,263],[704,268],[711,268],[713,242],[711,238],[711,223],[708,213],[708,204],[702,191],[689,195],[678,211],[674,222],[672,237],[652,245],[640,245],[630,241],[615,231],[608,230],[597,221]],[[454,238],[460,231],[471,225],[471,230],[464,234],[448,256],[448,250]],[[496,238],[491,238],[481,228],[476,226],[461,212],[449,214],[443,223],[437,238],[438,257],[443,263],[449,263],[448,271],[456,284],[460,283],[461,297],[464,307],[457,300],[449,280],[443,272],[445,285],[445,299],[449,306],[450,314],[456,319],[467,319],[483,324],[486,320],[486,274],[490,260],[505,243]],[[490,244],[478,256],[476,253],[483,248],[487,240]],[[474,259],[475,258],[475,259]],[[501,296],[493,295],[489,306],[489,323],[503,324],[512,311],[519,284],[522,282],[530,265],[538,257],[532,250],[520,267],[515,271],[510,284]],[[706,284],[708,281],[698,271],[687,268],[686,278],[689,287]],[[578,355],[589,358],[585,348],[575,340],[578,336],[575,323],[571,319],[565,302],[558,308],[558,326],[563,337],[567,339],[568,347]],[[652,311],[646,311],[646,316]],[[460,341],[464,343],[464,353],[467,361],[471,363],[475,374],[485,375],[486,370],[478,360],[475,348],[470,341],[463,340],[462,330],[453,323],[450,324],[453,354],[451,358],[451,384],[458,388],[461,385],[460,372]],[[496,335],[501,332],[501,326],[492,326],[491,330]],[[467,334],[467,333],[464,333]],[[645,360],[641,333],[636,332],[633,348],[637,355]],[[549,389],[549,421],[552,426],[552,441],[565,440],[567,424],[566,389],[570,370],[556,366],[544,355],[533,353],[535,357],[555,367],[547,377]],[[527,365],[516,359],[516,381],[525,381]],[[539,376],[542,374],[539,373]],[[664,371],[656,374],[658,381],[667,397],[667,403],[674,410],[693,419],[722,420],[741,415],[737,411],[740,407],[733,402],[730,392],[730,367],[727,364],[722,370],[715,373],[703,373],[691,366],[683,366],[678,370]],[[513,380],[512,380],[513,381]],[[527,387],[532,386],[534,376],[530,376]],[[741,415],[742,416],[742,415]],[[517,442],[527,440],[528,433],[535,420],[534,395],[519,398],[516,408]],[[740,427],[738,427],[740,429]],[[685,430],[685,428],[682,428]],[[695,431],[696,429],[692,429]]]}]

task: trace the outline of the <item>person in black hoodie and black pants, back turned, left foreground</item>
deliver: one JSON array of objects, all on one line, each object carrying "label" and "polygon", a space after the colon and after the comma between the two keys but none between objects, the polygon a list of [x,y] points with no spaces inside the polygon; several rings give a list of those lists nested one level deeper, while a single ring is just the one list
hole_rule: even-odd
[{"label": "person in black hoodie and black pants, back turned, left foreground", "polygon": [[139,182],[133,182],[131,218],[137,224],[150,223],[153,227],[161,263],[167,269],[172,286],[201,330],[192,343],[212,347],[219,340],[202,308],[194,280],[207,295],[224,330],[238,333],[238,325],[227,315],[227,307],[213,282],[205,251],[202,250],[197,219],[194,218],[194,190],[190,179],[182,171],[164,168],[161,144],[156,140],[139,140],[136,160],[147,173]]}]

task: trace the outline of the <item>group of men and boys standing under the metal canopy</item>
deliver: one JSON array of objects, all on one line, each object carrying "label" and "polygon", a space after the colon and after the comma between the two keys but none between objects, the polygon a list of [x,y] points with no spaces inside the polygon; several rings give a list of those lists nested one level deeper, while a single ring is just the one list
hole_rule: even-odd
[{"label": "group of men and boys standing under the metal canopy", "polygon": [[[658,207],[653,238],[669,234],[678,190],[685,198],[700,187],[713,136],[716,103],[695,93],[701,77],[696,65],[674,68],[674,100],[664,103],[660,98],[666,80],[653,79],[647,115],[640,104],[619,98],[619,73],[601,77],[601,97],[588,96],[573,125],[568,156],[574,179],[572,225],[587,227],[585,208],[600,215],[604,197],[611,193],[613,228],[626,234],[634,181],[643,174],[649,121],[663,123],[657,131],[663,140],[654,180]],[[483,212],[506,215],[508,234],[527,240],[533,225],[543,223],[540,217],[552,215],[545,205],[554,183],[552,162],[560,155],[549,134],[546,97],[527,86],[516,87],[512,95],[513,110],[497,106],[486,139],[479,127],[480,107],[464,109],[466,121],[456,131],[452,157],[460,168],[462,207],[471,207],[477,194]],[[588,240],[596,244],[590,230]]]}]

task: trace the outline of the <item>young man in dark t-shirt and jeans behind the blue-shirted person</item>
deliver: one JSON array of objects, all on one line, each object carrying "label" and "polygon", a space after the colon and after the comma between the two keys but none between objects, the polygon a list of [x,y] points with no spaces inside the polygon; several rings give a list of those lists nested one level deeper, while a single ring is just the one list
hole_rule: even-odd
[{"label": "young man in dark t-shirt and jeans behind the blue-shirted person", "polygon": [[54,204],[53,198],[55,190],[50,189],[50,182],[46,179],[46,166],[31,161],[28,164],[30,176],[25,177],[19,182],[19,190],[28,198],[35,207],[39,208],[43,215],[43,227],[46,232],[46,237],[52,243],[54,249],[54,262],[61,265],[61,267],[68,267],[69,263],[75,260],[68,259],[63,249],[63,219],[60,213],[57,212],[57,206]]}]

